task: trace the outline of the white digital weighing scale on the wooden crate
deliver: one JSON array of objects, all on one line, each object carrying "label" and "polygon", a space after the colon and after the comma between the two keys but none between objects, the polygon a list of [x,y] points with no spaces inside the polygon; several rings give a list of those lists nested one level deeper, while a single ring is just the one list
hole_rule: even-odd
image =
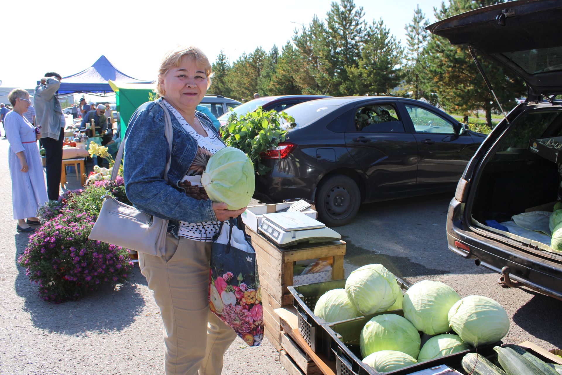
[{"label": "white digital weighing scale on the wooden crate", "polygon": [[325,242],[342,238],[324,223],[301,212],[264,214],[258,229],[280,247],[299,242]]}]

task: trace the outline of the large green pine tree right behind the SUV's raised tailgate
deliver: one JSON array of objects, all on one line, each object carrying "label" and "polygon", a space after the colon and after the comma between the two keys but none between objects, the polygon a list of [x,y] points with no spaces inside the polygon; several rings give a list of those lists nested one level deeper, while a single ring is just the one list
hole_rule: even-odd
[{"label": "large green pine tree right behind the SUV's raised tailgate", "polygon": [[[438,20],[463,13],[474,8],[502,2],[501,0],[449,0],[448,7],[443,2],[435,10]],[[484,79],[474,64],[466,46],[451,46],[445,38],[432,35],[428,47],[428,70],[439,97],[439,104],[450,112],[463,112],[481,109],[486,113],[486,124],[492,126],[492,110],[499,108],[486,86]],[[522,79],[514,78],[496,62],[478,56],[484,72],[494,88],[496,96],[504,109],[514,105],[514,98],[524,90]],[[510,76],[511,75],[511,76]]]}]

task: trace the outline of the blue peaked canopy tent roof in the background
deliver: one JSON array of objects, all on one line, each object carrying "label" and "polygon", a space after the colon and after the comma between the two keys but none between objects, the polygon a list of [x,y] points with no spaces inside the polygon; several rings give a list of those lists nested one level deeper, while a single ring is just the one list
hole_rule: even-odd
[{"label": "blue peaked canopy tent roof in the background", "polygon": [[108,83],[109,80],[119,83],[152,83],[133,78],[117,70],[105,56],[98,58],[88,69],[62,78],[59,94],[83,92],[83,93],[113,93]]}]

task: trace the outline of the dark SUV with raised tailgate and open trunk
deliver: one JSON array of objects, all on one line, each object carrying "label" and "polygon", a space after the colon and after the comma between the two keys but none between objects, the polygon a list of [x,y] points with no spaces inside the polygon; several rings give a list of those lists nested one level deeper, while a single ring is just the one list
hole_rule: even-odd
[{"label": "dark SUV with raised tailgate and open trunk", "polygon": [[560,0],[521,0],[428,26],[451,44],[467,45],[473,57],[490,57],[518,74],[529,92],[466,166],[448,209],[448,247],[500,273],[505,286],[558,299],[562,249],[551,247],[549,216],[562,176],[560,20]]}]

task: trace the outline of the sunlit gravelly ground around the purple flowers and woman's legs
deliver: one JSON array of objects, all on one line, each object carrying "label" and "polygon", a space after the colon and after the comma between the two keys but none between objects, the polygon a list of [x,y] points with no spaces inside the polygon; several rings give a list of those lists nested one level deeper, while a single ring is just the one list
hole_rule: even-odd
[{"label": "sunlit gravelly ground around the purple flowers and woman's legs", "polygon": [[[0,160],[8,141],[0,139]],[[10,171],[0,164],[0,374],[163,374],[160,311],[135,267],[130,281],[75,302],[37,297],[25,269],[16,264],[28,242],[12,219]],[[78,188],[69,174],[69,188]],[[248,347],[237,338],[224,357],[223,374],[286,375],[267,340]]]}]

